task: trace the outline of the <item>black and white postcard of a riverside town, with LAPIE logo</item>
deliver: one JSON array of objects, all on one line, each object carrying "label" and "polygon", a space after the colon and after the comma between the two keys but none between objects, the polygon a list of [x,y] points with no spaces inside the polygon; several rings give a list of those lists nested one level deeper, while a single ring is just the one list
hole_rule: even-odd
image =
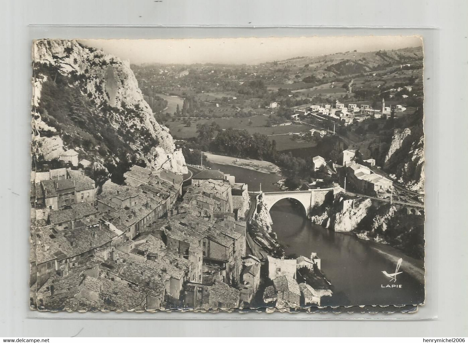
[{"label": "black and white postcard of a riverside town, with LAPIE logo", "polygon": [[422,37],[42,39],[32,87],[32,309],[424,304]]}]

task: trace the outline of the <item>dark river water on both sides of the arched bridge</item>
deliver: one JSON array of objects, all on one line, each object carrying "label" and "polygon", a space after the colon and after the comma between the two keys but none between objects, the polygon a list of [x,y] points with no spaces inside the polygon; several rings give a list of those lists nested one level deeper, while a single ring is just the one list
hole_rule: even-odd
[{"label": "dark river water on both sides of the arched bridge", "polygon": [[[236,182],[248,183],[249,191],[257,191],[260,182],[265,192],[279,190],[273,185],[281,179],[278,175],[223,164],[212,164],[212,169],[234,175]],[[424,286],[405,272],[397,276],[396,284],[402,288],[382,288],[393,284],[382,271],[395,272],[395,263],[366,241],[312,224],[302,206],[287,199],[278,201],[270,214],[273,231],[287,246],[286,254],[310,256],[314,252],[322,259],[322,272],[334,287],[332,297],[322,298],[322,306],[408,305],[424,301]]]}]

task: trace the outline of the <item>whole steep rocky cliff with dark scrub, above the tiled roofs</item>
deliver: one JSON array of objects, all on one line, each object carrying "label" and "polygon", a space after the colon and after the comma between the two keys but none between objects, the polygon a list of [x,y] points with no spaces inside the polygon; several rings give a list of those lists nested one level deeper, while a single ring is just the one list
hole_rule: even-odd
[{"label": "whole steep rocky cliff with dark scrub, above the tiled roofs", "polygon": [[80,160],[118,164],[132,157],[187,172],[182,151],[154,119],[128,63],[74,40],[33,44],[32,152],[37,160],[74,149]]}]

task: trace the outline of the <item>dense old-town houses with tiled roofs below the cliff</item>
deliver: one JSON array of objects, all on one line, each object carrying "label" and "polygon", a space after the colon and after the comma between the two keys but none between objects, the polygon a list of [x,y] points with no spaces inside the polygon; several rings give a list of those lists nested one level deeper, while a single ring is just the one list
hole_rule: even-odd
[{"label": "dense old-town houses with tiled roofs below the cliff", "polygon": [[[256,289],[245,265],[246,184],[139,166],[124,185],[70,168],[31,176],[31,305],[39,309],[232,308]],[[259,267],[258,267],[259,268]],[[235,287],[234,287],[235,285]],[[245,288],[249,289],[246,291]]]}]

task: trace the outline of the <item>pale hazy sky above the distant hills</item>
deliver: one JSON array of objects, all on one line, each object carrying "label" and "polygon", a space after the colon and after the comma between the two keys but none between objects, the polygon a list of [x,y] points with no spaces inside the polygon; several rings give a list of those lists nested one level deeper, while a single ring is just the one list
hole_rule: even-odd
[{"label": "pale hazy sky above the distant hills", "polygon": [[369,52],[421,46],[417,36],[88,39],[80,43],[130,63],[257,64],[297,56],[320,56],[357,50]]}]

